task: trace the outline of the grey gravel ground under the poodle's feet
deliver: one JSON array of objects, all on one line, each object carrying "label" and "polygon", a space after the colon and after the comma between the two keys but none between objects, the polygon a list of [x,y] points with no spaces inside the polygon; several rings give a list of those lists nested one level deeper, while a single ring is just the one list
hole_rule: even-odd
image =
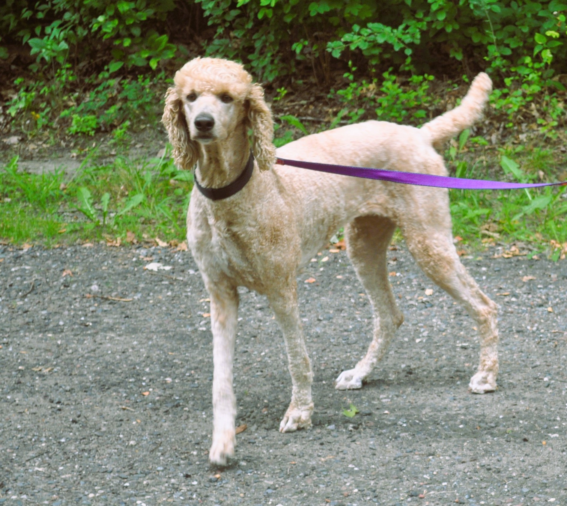
[{"label": "grey gravel ground under the poodle's feet", "polygon": [[0,246],[0,504],[567,504],[567,262],[498,253],[463,257],[500,304],[500,388],[485,396],[467,392],[473,321],[403,245],[389,270],[405,323],[362,390],[335,390],[369,344],[370,305],[344,252],[310,263],[314,426],[296,433],[277,430],[291,392],[280,331],[241,290],[246,429],[214,468],[209,304],[191,254]]}]

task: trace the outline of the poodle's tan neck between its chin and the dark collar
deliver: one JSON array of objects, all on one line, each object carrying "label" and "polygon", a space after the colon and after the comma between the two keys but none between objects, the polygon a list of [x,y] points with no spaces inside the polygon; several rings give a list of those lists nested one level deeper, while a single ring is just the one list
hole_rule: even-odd
[{"label": "poodle's tan neck between its chin and the dark collar", "polygon": [[248,162],[250,148],[244,125],[223,141],[198,143],[199,159],[195,174],[205,188],[223,188],[234,181]]}]

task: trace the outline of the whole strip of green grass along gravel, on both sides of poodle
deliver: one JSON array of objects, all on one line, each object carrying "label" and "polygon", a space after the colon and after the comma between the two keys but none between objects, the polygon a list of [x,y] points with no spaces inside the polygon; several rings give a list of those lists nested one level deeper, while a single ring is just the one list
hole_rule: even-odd
[{"label": "whole strip of green grass along gravel, on both sides of poodle", "polygon": [[[567,156],[552,148],[467,151],[467,139],[463,135],[446,156],[450,171],[459,177],[553,181],[565,170]],[[491,166],[497,170],[486,169]],[[118,158],[111,165],[85,161],[71,177],[61,171],[18,172],[13,159],[0,169],[0,238],[46,246],[117,237],[182,241],[191,188],[191,173],[178,171],[168,155]],[[567,251],[566,188],[451,190],[453,232],[462,238],[460,248],[523,241],[556,260],[560,245]]]}]

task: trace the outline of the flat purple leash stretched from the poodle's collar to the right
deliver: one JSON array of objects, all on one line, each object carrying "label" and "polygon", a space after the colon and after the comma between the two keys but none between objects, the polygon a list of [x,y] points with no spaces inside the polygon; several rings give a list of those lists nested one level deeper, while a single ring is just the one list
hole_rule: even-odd
[{"label": "flat purple leash stretched from the poodle's collar to the right", "polygon": [[539,188],[541,186],[565,186],[567,181],[541,182],[541,183],[517,183],[486,181],[483,179],[462,179],[459,177],[434,176],[414,172],[389,171],[387,169],[370,169],[367,167],[352,167],[350,165],[331,165],[326,163],[314,163],[312,161],[297,161],[278,158],[278,165],[291,165],[312,171],[340,174],[341,176],[364,177],[367,179],[378,179],[380,181],[399,182],[405,185],[435,186],[437,188],[454,188],[457,190],[515,190],[519,188]]}]

